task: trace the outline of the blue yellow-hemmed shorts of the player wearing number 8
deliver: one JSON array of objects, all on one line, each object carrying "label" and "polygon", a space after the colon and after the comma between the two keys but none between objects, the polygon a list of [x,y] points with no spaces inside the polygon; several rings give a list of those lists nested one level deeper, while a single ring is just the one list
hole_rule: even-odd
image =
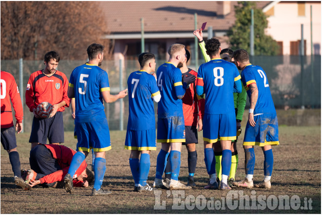
[{"label": "blue yellow-hemmed shorts of the player wearing number 8", "polygon": [[203,140],[216,143],[220,140],[236,140],[235,112],[224,114],[204,114]]}]

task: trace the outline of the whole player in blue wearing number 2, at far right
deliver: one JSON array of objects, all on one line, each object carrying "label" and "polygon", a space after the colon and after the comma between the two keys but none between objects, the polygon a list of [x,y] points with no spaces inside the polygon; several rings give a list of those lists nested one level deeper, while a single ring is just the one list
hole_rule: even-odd
[{"label": "whole player in blue wearing number 2, at far right", "polygon": [[277,116],[267,75],[262,67],[249,63],[249,56],[245,50],[236,50],[234,59],[238,69],[242,70],[241,81],[251,103],[243,143],[246,178],[234,184],[238,187],[254,187],[254,146],[258,145],[264,152],[264,181],[255,187],[269,189],[274,163],[272,145],[279,145],[279,141]]}]

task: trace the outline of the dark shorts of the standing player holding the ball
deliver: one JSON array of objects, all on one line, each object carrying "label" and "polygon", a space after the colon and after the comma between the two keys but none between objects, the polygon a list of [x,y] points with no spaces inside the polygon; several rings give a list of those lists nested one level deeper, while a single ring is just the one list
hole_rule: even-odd
[{"label": "dark shorts of the standing player holding the ball", "polygon": [[64,123],[62,112],[56,112],[53,117],[41,119],[33,117],[29,143],[63,143]]}]

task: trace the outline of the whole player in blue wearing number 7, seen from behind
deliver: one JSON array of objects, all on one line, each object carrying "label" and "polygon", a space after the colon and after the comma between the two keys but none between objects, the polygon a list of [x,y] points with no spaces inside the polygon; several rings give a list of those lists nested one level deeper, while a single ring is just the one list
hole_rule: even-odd
[{"label": "whole player in blue wearing number 7, seen from behind", "polygon": [[161,95],[154,73],[154,54],[142,53],[138,56],[138,62],[140,70],[132,72],[127,79],[130,96],[125,149],[131,150],[129,163],[135,183],[134,191],[141,192],[154,190],[147,184],[147,179],[150,152],[157,150],[153,101],[159,102]]}]

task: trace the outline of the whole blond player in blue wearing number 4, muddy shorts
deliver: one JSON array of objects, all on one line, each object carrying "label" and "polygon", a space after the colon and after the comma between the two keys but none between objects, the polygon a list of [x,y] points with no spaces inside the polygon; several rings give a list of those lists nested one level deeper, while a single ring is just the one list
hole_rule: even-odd
[{"label": "whole blond player in blue wearing number 4, muddy shorts", "polygon": [[[182,142],[185,142],[185,120],[182,108],[182,98],[190,83],[194,82],[194,75],[184,75],[177,68],[178,63],[186,59],[185,46],[173,44],[168,49],[169,60],[157,70],[157,84],[161,93],[158,103],[158,134],[157,142],[161,143],[161,150],[157,157],[156,177],[153,187],[162,188],[166,183],[162,181],[167,158],[170,156],[171,180],[170,190],[191,189],[178,181],[180,173],[180,158]],[[184,82],[184,83],[183,83]]]}]

